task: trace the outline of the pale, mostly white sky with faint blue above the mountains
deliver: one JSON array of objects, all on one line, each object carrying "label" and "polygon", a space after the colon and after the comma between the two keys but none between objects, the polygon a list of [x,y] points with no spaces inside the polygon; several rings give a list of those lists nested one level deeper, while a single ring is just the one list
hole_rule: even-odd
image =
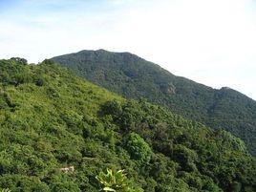
[{"label": "pale, mostly white sky with faint blue above the mountains", "polygon": [[98,49],[256,100],[256,0],[0,0],[0,58]]}]

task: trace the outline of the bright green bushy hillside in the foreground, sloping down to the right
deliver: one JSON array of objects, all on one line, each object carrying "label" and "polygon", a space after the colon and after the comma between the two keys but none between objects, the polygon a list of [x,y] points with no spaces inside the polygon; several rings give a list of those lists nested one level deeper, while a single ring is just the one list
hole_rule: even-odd
[{"label": "bright green bushy hillside in the foreground, sloping down to the right", "polygon": [[51,60],[0,60],[0,133],[3,191],[96,192],[107,168],[124,169],[130,192],[256,187],[241,139],[124,99]]}]

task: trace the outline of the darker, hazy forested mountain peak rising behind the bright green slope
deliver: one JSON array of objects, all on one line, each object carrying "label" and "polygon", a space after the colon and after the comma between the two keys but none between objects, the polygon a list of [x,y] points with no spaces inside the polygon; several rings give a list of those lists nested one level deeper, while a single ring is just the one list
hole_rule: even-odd
[{"label": "darker, hazy forested mountain peak rising behind the bright green slope", "polygon": [[131,53],[81,51],[53,57],[90,82],[126,98],[146,98],[213,128],[243,139],[256,155],[256,101],[230,88],[212,89],[172,75]]}]

